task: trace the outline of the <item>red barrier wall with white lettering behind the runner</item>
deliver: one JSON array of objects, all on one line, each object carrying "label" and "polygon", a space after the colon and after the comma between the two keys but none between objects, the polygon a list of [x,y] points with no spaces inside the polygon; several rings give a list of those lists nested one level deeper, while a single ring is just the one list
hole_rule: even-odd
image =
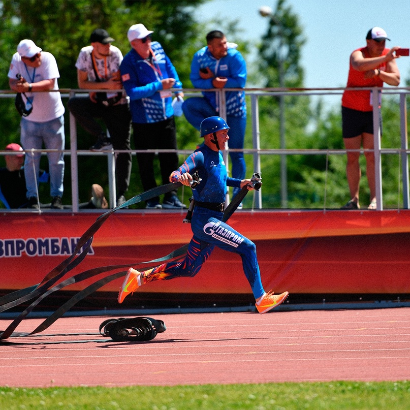
[{"label": "red barrier wall with white lettering behind the runner", "polygon": [[[0,215],[0,289],[39,283],[71,255],[96,213]],[[72,273],[133,264],[187,243],[179,211],[118,211],[94,235]],[[410,293],[410,211],[237,211],[230,224],[256,242],[266,290],[291,293]],[[118,269],[116,270],[118,271]],[[115,272],[115,271],[114,271]],[[95,279],[73,285],[80,290]],[[117,291],[121,279],[102,291]],[[215,249],[194,278],[150,283],[139,292],[250,293],[235,254]]]}]

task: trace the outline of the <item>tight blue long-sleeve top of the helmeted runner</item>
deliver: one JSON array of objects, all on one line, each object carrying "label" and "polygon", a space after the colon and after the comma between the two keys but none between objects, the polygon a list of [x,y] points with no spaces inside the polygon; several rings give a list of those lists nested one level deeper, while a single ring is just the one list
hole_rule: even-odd
[{"label": "tight blue long-sleeve top of the helmeted runner", "polygon": [[185,172],[191,175],[198,171],[202,179],[193,190],[195,201],[200,202],[225,202],[227,186],[240,188],[241,180],[227,175],[224,158],[220,151],[213,151],[206,145],[196,149],[185,162],[171,174],[171,180],[177,182],[179,176]]}]

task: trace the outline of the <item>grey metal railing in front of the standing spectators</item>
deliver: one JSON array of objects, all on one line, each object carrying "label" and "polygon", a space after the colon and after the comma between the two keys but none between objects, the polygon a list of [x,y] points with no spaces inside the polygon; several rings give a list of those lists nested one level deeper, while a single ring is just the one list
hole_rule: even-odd
[{"label": "grey metal railing in front of the standing spectators", "polygon": [[[245,88],[246,95],[250,97],[250,111],[251,111],[251,124],[252,124],[252,148],[244,148],[242,151],[246,154],[253,155],[254,162],[254,172],[260,171],[261,169],[261,156],[262,155],[280,155],[285,157],[287,155],[317,155],[323,154],[327,157],[329,154],[345,154],[344,149],[261,149],[260,146],[260,124],[259,124],[259,99],[260,97],[266,96],[328,96],[328,95],[341,95],[345,89],[354,88]],[[358,88],[355,88],[358,89]],[[382,165],[381,165],[381,155],[382,154],[399,154],[401,162],[401,180],[402,180],[402,194],[403,194],[403,208],[410,209],[409,200],[409,176],[408,176],[408,150],[407,144],[407,106],[406,106],[406,96],[410,94],[410,87],[385,87],[385,88],[359,88],[360,90],[371,90],[372,91],[372,103],[373,103],[373,132],[374,132],[374,158],[375,158],[375,181],[376,181],[376,200],[377,200],[377,210],[383,210],[383,192],[382,192]],[[390,148],[382,149],[381,138],[380,138],[380,111],[379,101],[381,98],[381,92],[383,89],[384,95],[398,94],[399,96],[399,106],[400,106],[400,148]],[[221,109],[219,115],[226,118],[226,91],[239,90],[234,88],[229,89],[215,89],[218,92],[219,101],[221,102]],[[77,93],[84,93],[92,90],[84,89],[60,89],[56,92],[61,92],[61,97],[70,98]],[[102,90],[103,91],[103,90]],[[202,90],[198,89],[182,89],[185,97],[191,97],[199,94]],[[207,90],[209,91],[209,90]],[[14,98],[15,92],[10,90],[0,90],[0,98]],[[283,119],[283,116],[281,116]],[[33,150],[34,152],[35,150]],[[144,150],[137,151],[132,150],[132,153],[137,152],[159,152],[160,150]],[[174,152],[174,150],[161,150],[161,152]],[[231,150],[238,151],[238,150]],[[352,150],[360,151],[363,153],[365,150]],[[49,150],[42,149],[42,153],[49,152]],[[70,150],[65,150],[65,154],[71,155],[71,185],[72,185],[72,206],[73,212],[78,212],[78,156],[80,155],[103,155],[107,157],[107,167],[108,167],[108,181],[109,181],[109,192],[110,199],[109,204],[111,207],[115,207],[115,154],[124,151],[111,150],[104,152],[94,152],[86,150],[78,150],[77,147],[77,124],[74,116],[70,113]],[[176,150],[178,154],[188,155],[191,150]],[[228,165],[228,150],[224,153],[224,159]],[[0,155],[9,154],[8,151],[0,151]],[[281,167],[282,169],[282,167]],[[281,184],[287,183],[287,179],[281,176]],[[283,192],[283,191],[282,191]],[[325,186],[325,198],[326,198],[326,186]],[[326,201],[326,199],[325,199]],[[326,208],[326,202],[324,204]],[[255,192],[255,208],[262,208],[262,194],[261,191]],[[3,210],[2,210],[3,211]]]}]

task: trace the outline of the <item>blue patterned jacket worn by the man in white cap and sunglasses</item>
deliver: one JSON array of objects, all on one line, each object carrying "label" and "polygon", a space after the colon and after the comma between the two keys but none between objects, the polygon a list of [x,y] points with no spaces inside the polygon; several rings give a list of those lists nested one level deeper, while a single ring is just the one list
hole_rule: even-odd
[{"label": "blue patterned jacket worn by the man in white cap and sunglasses", "polygon": [[[151,43],[153,56],[142,58],[131,49],[120,65],[122,84],[130,97],[133,122],[159,122],[174,115],[172,93],[163,90],[161,80],[174,78],[173,88],[182,88],[178,74],[161,44]],[[157,92],[161,91],[161,92]]]}]

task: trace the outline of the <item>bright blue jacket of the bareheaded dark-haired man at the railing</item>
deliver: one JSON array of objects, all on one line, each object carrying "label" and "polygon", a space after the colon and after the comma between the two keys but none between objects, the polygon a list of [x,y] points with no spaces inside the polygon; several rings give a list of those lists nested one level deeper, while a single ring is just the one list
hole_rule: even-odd
[{"label": "bright blue jacket of the bareheaded dark-haired man at the railing", "polygon": [[[194,54],[191,63],[190,79],[195,88],[215,88],[212,78],[202,79],[199,69],[209,68],[215,77],[228,79],[224,88],[244,88],[246,83],[246,62],[242,54],[235,48],[228,48],[228,54],[220,59],[212,56],[208,46],[201,48]],[[212,107],[219,112],[219,101],[214,91],[203,91],[204,97]],[[226,93],[227,115],[234,117],[246,116],[246,102],[244,91],[228,91]]]}]

